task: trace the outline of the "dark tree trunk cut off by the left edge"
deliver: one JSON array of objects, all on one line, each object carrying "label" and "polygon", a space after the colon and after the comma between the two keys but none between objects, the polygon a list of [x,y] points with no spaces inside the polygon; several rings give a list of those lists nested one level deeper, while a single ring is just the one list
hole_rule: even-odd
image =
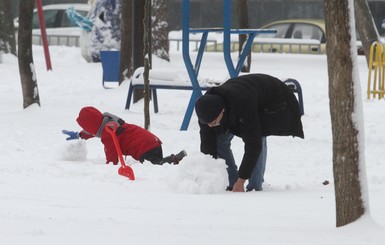
[{"label": "dark tree trunk cut off by the left edge", "polygon": [[16,55],[15,27],[11,0],[0,1],[0,52]]}]

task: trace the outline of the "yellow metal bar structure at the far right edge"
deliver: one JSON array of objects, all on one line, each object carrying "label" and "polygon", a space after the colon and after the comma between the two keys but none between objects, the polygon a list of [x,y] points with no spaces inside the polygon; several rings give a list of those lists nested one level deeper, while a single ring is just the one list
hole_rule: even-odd
[{"label": "yellow metal bar structure at the far right edge", "polygon": [[368,71],[368,99],[383,99],[385,95],[385,44],[374,42],[370,46]]}]

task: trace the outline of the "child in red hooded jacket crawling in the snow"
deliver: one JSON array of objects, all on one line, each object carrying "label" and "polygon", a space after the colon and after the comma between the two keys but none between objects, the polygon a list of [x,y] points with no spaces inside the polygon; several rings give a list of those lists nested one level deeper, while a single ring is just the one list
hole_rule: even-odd
[{"label": "child in red hooded jacket crawling in the snow", "polygon": [[131,156],[141,163],[148,160],[153,164],[160,165],[166,162],[178,164],[187,155],[185,151],[181,151],[178,154],[171,154],[163,158],[162,141],[154,134],[137,125],[125,123],[121,118],[108,112],[102,114],[98,109],[91,106],[82,108],[76,121],[83,130],[79,133],[63,130],[63,134],[69,136],[67,140],[100,138],[104,145],[107,164],[110,162],[118,164],[118,154],[112,137],[109,132],[104,130],[105,125],[109,122],[119,124],[116,136],[122,154]]}]

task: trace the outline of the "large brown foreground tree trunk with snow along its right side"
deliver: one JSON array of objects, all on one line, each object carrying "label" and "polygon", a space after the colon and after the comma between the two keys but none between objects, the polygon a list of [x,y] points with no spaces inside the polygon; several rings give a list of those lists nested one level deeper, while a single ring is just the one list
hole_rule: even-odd
[{"label": "large brown foreground tree trunk with snow along its right side", "polygon": [[355,81],[359,78],[353,75],[358,73],[353,66],[357,57],[351,52],[356,49],[351,42],[355,38],[354,24],[350,25],[354,15],[349,8],[353,5],[353,0],[325,0],[337,227],[352,223],[365,212],[360,180],[360,166],[363,166],[360,147],[364,143],[358,123],[362,117],[358,106],[361,98],[355,96],[359,95],[359,81]]}]

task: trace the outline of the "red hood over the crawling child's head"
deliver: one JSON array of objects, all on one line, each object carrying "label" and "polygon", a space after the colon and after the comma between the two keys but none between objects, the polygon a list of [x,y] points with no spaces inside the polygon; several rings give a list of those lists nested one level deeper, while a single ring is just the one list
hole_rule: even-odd
[{"label": "red hood over the crawling child's head", "polygon": [[80,110],[76,121],[85,131],[92,135],[97,135],[103,121],[103,115],[98,109],[88,106]]}]

